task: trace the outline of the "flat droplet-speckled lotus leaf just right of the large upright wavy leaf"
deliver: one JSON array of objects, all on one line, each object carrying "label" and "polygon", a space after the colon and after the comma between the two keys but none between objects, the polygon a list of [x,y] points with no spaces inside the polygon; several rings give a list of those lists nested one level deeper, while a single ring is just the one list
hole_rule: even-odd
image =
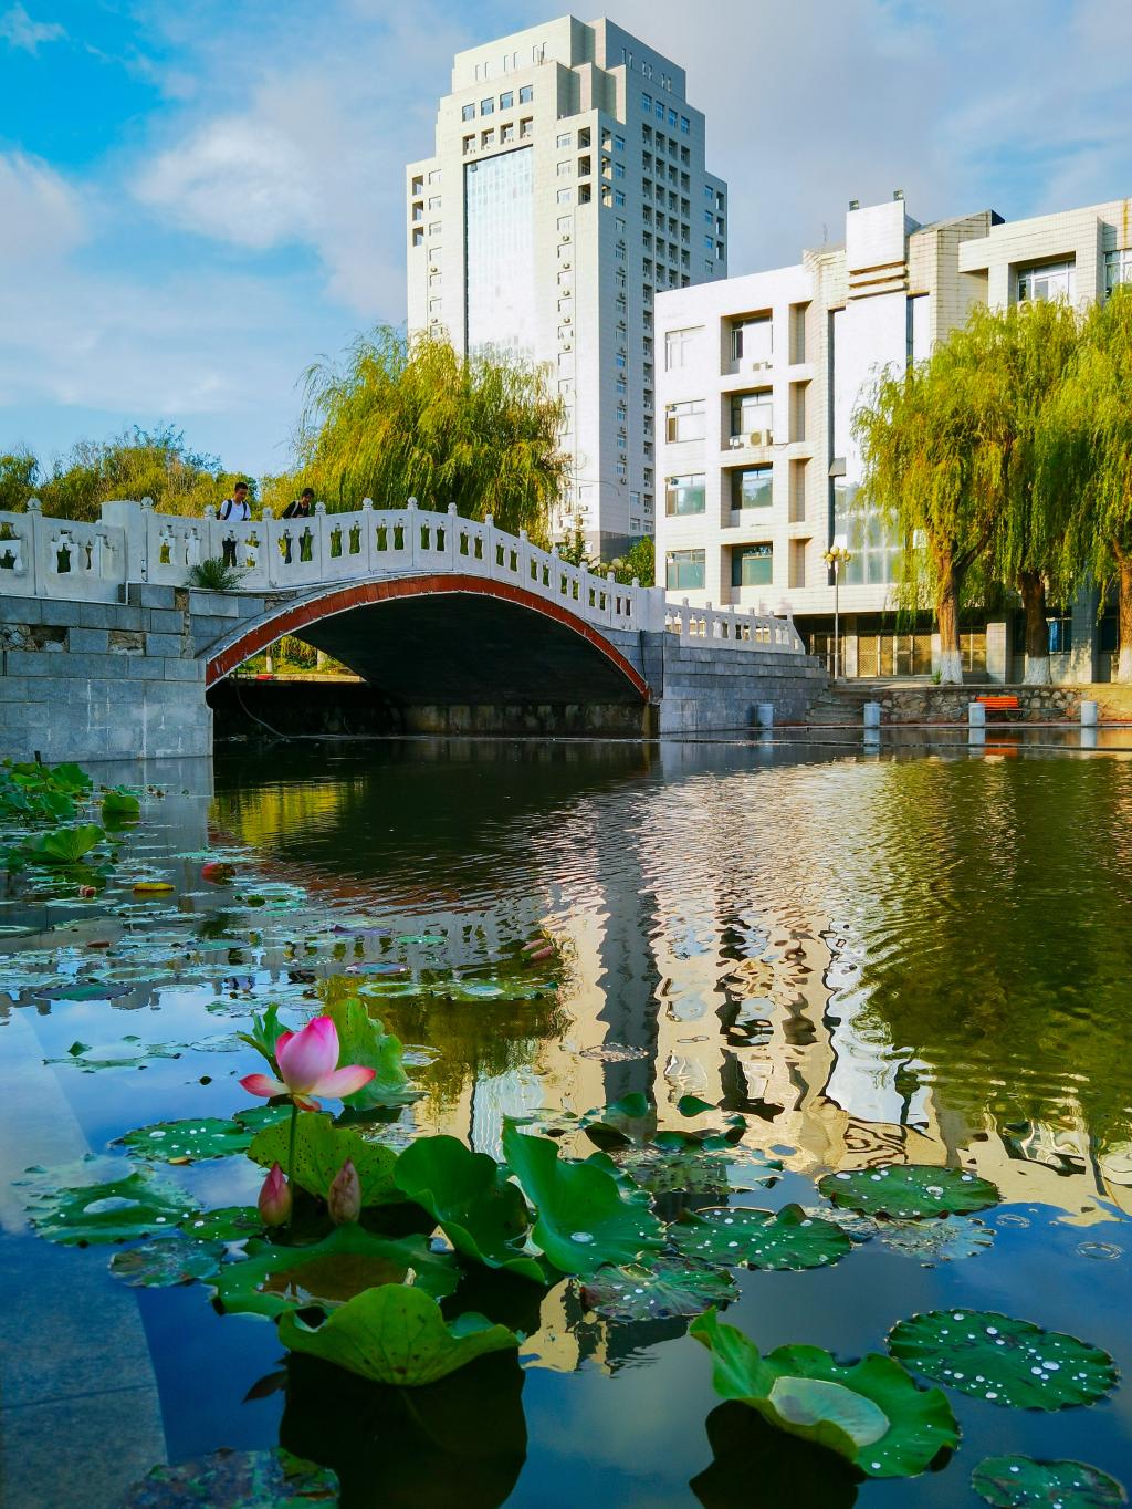
[{"label": "flat droplet-speckled lotus leaf just right of the large upright wavy leaf", "polygon": [[699,1210],[689,1221],[674,1221],[668,1240],[704,1263],[778,1269],[828,1268],[853,1246],[841,1227],[806,1215],[800,1206],[776,1212],[746,1206]]}]

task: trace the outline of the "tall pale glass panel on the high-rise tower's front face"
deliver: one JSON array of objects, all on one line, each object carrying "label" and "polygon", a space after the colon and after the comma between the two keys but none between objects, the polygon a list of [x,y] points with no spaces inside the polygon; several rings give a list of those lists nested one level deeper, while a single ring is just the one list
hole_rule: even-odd
[{"label": "tall pale glass panel on the high-rise tower's front face", "polygon": [[534,356],[534,148],[464,167],[467,349]]}]

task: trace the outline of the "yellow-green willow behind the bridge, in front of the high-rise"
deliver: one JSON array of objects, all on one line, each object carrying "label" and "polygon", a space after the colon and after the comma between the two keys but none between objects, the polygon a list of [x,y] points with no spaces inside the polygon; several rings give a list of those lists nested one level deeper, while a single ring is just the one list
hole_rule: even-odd
[{"label": "yellow-green willow behind the bridge, in front of the high-rise", "polygon": [[564,418],[540,368],[381,326],[341,365],[307,370],[298,460],[339,507],[455,502],[467,518],[491,515],[541,539],[570,477]]}]

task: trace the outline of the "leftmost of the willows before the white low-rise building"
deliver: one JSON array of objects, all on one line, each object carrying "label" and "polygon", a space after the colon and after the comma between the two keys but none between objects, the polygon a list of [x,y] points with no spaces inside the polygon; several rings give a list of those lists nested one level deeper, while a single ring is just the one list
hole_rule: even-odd
[{"label": "leftmost of the willows before the white low-rise building", "polygon": [[963,681],[959,611],[995,534],[1004,451],[983,418],[984,373],[960,343],[906,371],[886,368],[853,415],[862,501],[903,545],[901,593],[927,592],[939,626],[939,679]]}]

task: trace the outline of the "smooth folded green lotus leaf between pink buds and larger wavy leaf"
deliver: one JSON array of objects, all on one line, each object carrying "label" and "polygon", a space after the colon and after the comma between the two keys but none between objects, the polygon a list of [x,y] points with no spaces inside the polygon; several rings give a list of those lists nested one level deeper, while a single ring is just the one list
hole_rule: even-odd
[{"label": "smooth folded green lotus leaf between pink buds and larger wavy leaf", "polygon": [[541,1263],[522,1252],[531,1230],[523,1192],[487,1153],[472,1153],[454,1136],[421,1138],[396,1160],[393,1179],[436,1218],[457,1252],[546,1283]]}]

